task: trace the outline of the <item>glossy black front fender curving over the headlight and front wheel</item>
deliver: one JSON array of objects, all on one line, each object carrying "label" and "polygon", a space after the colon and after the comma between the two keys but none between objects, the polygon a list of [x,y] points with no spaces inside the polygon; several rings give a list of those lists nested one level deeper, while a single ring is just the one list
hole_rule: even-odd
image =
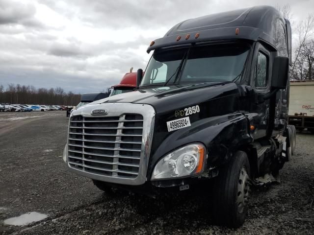
[{"label": "glossy black front fender curving over the headlight and front wheel", "polygon": [[[158,137],[154,138],[156,141]],[[253,141],[248,119],[240,112],[203,118],[190,127],[174,131],[153,151],[148,176],[151,176],[157,162],[173,150],[192,142],[202,142],[207,147],[207,169],[228,161],[239,146]]]}]

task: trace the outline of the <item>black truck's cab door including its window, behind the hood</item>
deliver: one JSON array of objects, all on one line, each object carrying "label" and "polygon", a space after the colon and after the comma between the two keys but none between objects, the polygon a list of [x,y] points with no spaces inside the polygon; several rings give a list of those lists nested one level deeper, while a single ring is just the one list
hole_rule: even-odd
[{"label": "black truck's cab door including its window, behind the hood", "polygon": [[251,67],[251,86],[254,90],[254,100],[250,112],[253,114],[254,139],[265,137],[269,125],[270,102],[263,97],[270,92],[270,52],[257,43]]}]

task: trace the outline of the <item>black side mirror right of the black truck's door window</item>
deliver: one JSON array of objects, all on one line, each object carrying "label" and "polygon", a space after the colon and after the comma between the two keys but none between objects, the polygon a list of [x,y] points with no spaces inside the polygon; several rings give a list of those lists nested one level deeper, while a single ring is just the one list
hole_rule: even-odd
[{"label": "black side mirror right of the black truck's door window", "polygon": [[274,89],[286,89],[288,82],[289,58],[276,56],[273,63],[271,87]]}]

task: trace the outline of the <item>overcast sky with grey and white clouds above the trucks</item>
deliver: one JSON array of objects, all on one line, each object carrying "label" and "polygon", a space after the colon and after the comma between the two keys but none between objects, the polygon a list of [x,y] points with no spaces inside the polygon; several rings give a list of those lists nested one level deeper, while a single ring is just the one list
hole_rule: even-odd
[{"label": "overcast sky with grey and white clouds above the trucks", "polygon": [[145,69],[174,24],[261,3],[289,3],[295,23],[314,13],[314,0],[0,0],[0,84],[99,92]]}]

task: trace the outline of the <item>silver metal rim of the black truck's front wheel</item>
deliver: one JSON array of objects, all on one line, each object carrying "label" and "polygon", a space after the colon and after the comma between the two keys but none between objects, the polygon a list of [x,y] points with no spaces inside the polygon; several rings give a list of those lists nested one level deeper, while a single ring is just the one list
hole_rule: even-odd
[{"label": "silver metal rim of the black truck's front wheel", "polygon": [[247,205],[248,196],[249,196],[249,175],[247,174],[244,167],[240,170],[239,175],[239,182],[237,186],[237,198],[236,198],[236,205],[237,205],[237,211],[239,213],[242,213],[244,211],[244,208]]}]

